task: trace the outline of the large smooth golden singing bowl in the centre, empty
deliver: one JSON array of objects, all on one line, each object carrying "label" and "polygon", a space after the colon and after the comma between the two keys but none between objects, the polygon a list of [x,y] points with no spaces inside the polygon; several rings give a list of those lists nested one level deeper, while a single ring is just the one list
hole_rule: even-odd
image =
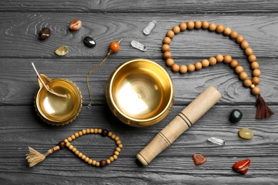
[{"label": "large smooth golden singing bowl in the centre, empty", "polygon": [[173,82],[158,63],[143,58],[129,60],[110,75],[106,100],[120,121],[133,127],[148,127],[170,112]]}]

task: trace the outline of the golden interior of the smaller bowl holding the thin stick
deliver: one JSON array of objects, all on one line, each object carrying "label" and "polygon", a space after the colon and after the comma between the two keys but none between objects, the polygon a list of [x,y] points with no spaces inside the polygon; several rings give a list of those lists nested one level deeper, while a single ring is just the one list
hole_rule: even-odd
[{"label": "golden interior of the smaller bowl holding the thin stick", "polygon": [[48,84],[49,88],[67,97],[58,97],[41,88],[36,96],[36,107],[41,115],[51,122],[63,122],[71,119],[78,112],[80,97],[78,90],[70,83],[54,79]]}]

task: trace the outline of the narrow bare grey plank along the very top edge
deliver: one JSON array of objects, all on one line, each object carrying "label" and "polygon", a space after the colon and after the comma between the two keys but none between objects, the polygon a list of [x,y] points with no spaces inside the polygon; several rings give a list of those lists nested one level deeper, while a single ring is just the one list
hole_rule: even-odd
[{"label": "narrow bare grey plank along the very top edge", "polygon": [[262,1],[1,1],[0,11],[22,12],[101,12],[101,13],[173,13],[173,14],[248,14],[277,13],[275,0]]}]

